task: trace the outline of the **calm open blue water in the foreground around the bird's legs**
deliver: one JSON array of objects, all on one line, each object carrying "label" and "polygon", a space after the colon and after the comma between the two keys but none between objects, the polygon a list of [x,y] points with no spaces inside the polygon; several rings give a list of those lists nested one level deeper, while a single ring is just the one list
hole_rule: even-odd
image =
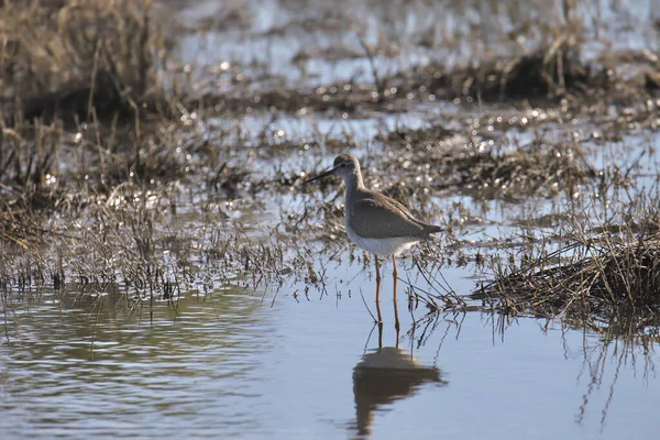
[{"label": "calm open blue water in the foreground around the bird's legs", "polygon": [[[373,311],[373,279],[356,265],[336,271],[343,279],[307,296],[300,284],[276,297],[188,294],[178,314],[157,302],[153,323],[148,304],[130,311],[111,293],[96,304],[48,292],[29,309],[15,302],[0,348],[3,438],[650,433],[660,398],[653,351],[604,344],[560,322],[503,323],[480,312],[427,321],[421,308],[407,310],[403,284],[397,339],[389,274],[378,350],[362,299]],[[471,283],[460,275],[446,271],[463,293]]]}]

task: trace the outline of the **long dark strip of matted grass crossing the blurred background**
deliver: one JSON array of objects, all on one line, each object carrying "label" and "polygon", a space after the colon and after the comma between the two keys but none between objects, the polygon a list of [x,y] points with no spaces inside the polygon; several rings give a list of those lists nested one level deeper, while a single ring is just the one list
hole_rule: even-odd
[{"label": "long dark strip of matted grass crossing the blurred background", "polygon": [[481,59],[468,66],[431,61],[388,75],[377,72],[373,54],[366,51],[365,58],[374,72],[373,84],[349,80],[318,87],[285,85],[256,90],[238,86],[220,94],[202,92],[191,105],[202,102],[234,114],[261,110],[365,118],[374,112],[399,113],[437,100],[514,106],[563,102],[579,109],[595,103],[627,106],[658,96],[654,66],[640,68],[634,75],[620,75],[619,58],[585,62],[584,37],[576,32],[557,31],[548,35],[548,42],[521,55]]}]

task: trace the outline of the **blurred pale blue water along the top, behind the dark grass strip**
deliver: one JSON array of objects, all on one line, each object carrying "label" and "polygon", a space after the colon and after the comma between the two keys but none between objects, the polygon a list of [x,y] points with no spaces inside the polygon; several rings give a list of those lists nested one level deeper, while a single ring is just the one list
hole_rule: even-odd
[{"label": "blurred pale blue water along the top, behind the dark grass strip", "polygon": [[[238,65],[245,78],[264,79],[257,81],[258,88],[372,82],[371,62],[361,40],[380,46],[372,61],[381,76],[432,62],[454,67],[528,53],[546,41],[544,25],[579,26],[586,36],[581,52],[585,61],[610,51],[657,52],[660,43],[654,25],[660,10],[657,0],[575,2],[570,24],[560,2],[542,1],[183,3],[188,3],[178,13],[184,23],[194,26],[207,20],[211,26],[179,38],[179,61],[193,66]],[[241,11],[240,16],[248,20],[228,20],[231,11]],[[193,72],[193,77],[204,75]],[[223,80],[218,87],[232,88]]]}]

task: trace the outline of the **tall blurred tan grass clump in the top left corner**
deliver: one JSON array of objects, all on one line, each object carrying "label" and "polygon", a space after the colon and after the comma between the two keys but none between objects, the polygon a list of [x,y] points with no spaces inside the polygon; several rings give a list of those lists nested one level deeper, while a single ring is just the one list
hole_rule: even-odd
[{"label": "tall blurred tan grass clump in the top left corner", "polygon": [[0,99],[13,109],[4,119],[136,111],[157,91],[166,53],[151,3],[3,2]]}]

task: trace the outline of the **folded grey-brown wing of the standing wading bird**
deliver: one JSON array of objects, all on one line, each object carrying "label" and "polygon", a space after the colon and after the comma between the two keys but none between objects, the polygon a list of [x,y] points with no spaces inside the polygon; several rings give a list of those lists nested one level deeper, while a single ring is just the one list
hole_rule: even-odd
[{"label": "folded grey-brown wing of the standing wading bird", "polygon": [[388,200],[360,199],[351,204],[346,223],[358,235],[365,239],[428,235],[427,226]]}]

